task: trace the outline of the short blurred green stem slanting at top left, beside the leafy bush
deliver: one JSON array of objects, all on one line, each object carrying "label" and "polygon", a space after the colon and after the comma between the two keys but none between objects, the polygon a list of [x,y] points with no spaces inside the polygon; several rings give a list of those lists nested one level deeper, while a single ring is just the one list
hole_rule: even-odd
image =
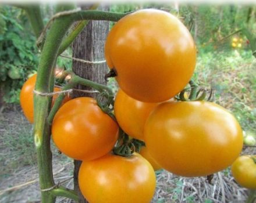
[{"label": "short blurred green stem slanting at top left, beside the leafy bush", "polygon": [[40,5],[27,5],[23,7],[26,10],[29,21],[34,30],[35,37],[39,37],[44,29],[44,23],[42,21]]}]

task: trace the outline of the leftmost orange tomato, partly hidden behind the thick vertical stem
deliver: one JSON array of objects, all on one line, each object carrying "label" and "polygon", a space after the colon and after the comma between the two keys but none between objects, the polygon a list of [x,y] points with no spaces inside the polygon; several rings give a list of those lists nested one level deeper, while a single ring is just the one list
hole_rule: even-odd
[{"label": "leftmost orange tomato, partly hidden behind the thick vertical stem", "polygon": [[[34,100],[33,100],[33,90],[35,89],[35,81],[37,79],[37,74],[31,76],[22,86],[22,90],[20,91],[20,106],[22,106],[23,113],[25,117],[28,119],[31,124],[34,122]],[[61,88],[54,88],[54,92],[61,91]],[[54,105],[54,101],[58,95],[54,95],[52,97],[52,106]],[[66,96],[63,99],[62,104],[69,101],[71,97]]]}]

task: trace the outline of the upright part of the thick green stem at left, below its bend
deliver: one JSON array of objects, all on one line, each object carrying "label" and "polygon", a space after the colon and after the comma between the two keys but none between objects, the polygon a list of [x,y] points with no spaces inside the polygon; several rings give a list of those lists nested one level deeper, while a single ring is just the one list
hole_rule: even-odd
[{"label": "upright part of the thick green stem at left, below its bend", "polygon": [[[49,93],[52,89],[50,76],[58,49],[72,22],[66,17],[56,19],[49,30],[38,66],[37,82],[35,84],[35,90],[38,92]],[[50,99],[46,96],[34,96],[34,140],[37,149],[41,190],[50,189],[55,184],[52,175],[52,153],[50,148],[51,129],[47,122],[49,101]],[[42,203],[55,202],[55,195],[51,195],[51,191],[42,191],[41,198]]]}]

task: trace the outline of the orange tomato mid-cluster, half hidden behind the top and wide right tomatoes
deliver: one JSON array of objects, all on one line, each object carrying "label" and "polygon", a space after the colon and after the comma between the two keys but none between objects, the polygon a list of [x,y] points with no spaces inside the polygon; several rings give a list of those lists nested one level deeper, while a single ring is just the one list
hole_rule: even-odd
[{"label": "orange tomato mid-cluster, half hidden behind the top and wide right tomatoes", "polygon": [[129,136],[144,140],[143,128],[151,111],[158,103],[139,102],[119,89],[116,94],[114,112],[119,126]]}]

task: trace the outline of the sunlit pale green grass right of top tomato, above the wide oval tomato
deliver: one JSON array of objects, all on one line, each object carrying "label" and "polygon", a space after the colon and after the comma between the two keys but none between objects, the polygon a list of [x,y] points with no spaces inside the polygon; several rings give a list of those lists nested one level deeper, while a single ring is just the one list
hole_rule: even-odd
[{"label": "sunlit pale green grass right of top tomato, above the wide oval tomato", "polygon": [[215,91],[214,102],[232,111],[244,131],[256,134],[256,59],[250,50],[199,53],[194,80]]}]

